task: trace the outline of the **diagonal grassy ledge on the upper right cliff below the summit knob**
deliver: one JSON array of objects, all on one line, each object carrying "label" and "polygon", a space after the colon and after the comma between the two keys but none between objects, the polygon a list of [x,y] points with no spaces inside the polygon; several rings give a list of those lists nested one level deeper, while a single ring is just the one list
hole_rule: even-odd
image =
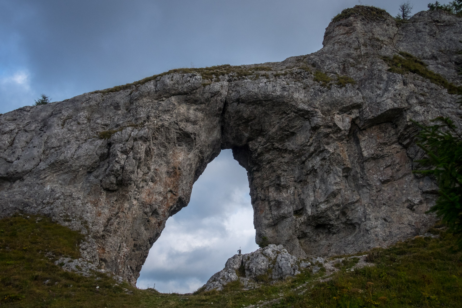
[{"label": "diagonal grassy ledge on the upper right cliff below the summit knob", "polygon": [[435,85],[441,85],[444,89],[448,90],[449,94],[462,94],[462,87],[456,86],[446,80],[440,74],[432,72],[427,68],[427,65],[419,58],[408,54],[406,52],[400,52],[401,56],[395,54],[392,58],[384,57],[383,60],[390,66],[389,72],[395,72],[398,74],[405,74],[412,72],[418,74]]}]

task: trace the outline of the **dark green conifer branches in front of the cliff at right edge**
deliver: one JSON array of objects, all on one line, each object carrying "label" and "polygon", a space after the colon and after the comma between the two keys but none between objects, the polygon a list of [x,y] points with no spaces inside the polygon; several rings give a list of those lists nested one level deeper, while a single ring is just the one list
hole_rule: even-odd
[{"label": "dark green conifer branches in front of the cliff at right edge", "polygon": [[423,126],[413,121],[421,128],[416,144],[427,156],[417,162],[428,168],[413,172],[436,177],[440,196],[429,212],[442,218],[462,248],[462,135],[449,118],[432,121],[439,124]]}]

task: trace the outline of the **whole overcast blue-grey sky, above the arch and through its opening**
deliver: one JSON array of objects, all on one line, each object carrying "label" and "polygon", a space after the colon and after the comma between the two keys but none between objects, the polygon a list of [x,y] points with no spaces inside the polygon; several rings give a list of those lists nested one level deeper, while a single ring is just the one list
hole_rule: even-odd
[{"label": "whole overcast blue-grey sky, above the arch and through its opening", "polygon": [[[401,2],[0,0],[0,113],[41,93],[61,101],[177,67],[309,54],[322,48],[324,29],[342,9],[373,5],[395,16]],[[411,2],[416,13],[430,1]],[[254,237],[245,170],[226,151],[195,183],[188,207],[167,221],[138,285],[195,290],[236,246],[255,249]]]}]

